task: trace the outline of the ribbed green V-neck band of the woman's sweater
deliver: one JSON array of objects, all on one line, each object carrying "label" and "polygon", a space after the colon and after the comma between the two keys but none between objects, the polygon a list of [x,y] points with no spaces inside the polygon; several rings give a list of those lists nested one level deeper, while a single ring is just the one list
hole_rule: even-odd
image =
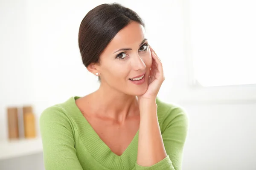
[{"label": "ribbed green V-neck band of the woman's sweater", "polygon": [[[96,161],[108,169],[116,169],[118,167],[119,170],[131,170],[135,166],[137,160],[139,130],[122,155],[116,155],[99,137],[98,133],[96,133],[87,119],[81,113],[80,109],[76,105],[76,99],[79,98],[79,96],[71,97],[70,102],[72,103],[70,104],[73,105],[73,113],[76,115],[73,117],[73,119],[78,129],[79,136],[87,150],[90,152],[93,158],[96,159]],[[109,164],[110,161],[112,164]]]}]

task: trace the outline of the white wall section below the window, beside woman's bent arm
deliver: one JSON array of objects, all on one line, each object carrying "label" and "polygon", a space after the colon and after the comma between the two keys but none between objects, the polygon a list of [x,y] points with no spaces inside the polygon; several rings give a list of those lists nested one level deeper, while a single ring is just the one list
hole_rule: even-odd
[{"label": "white wall section below the window, beside woman's bent arm", "polygon": [[256,170],[255,103],[182,103],[189,112],[183,170]]}]

